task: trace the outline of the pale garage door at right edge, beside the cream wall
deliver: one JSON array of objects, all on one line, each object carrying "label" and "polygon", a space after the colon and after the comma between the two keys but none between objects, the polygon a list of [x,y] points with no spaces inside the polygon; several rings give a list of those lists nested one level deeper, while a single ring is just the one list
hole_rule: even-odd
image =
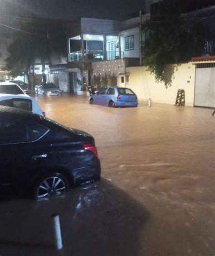
[{"label": "pale garage door at right edge, beside the cream wall", "polygon": [[196,65],[194,105],[202,107],[215,107],[214,63]]}]

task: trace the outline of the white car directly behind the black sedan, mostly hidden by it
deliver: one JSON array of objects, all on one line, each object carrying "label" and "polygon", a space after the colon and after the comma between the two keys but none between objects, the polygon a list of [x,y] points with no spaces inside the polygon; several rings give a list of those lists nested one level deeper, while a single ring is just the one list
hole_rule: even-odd
[{"label": "white car directly behind the black sedan, mostly hidden by it", "polygon": [[45,116],[45,112],[41,110],[37,101],[28,95],[0,94],[0,105],[27,110]]}]

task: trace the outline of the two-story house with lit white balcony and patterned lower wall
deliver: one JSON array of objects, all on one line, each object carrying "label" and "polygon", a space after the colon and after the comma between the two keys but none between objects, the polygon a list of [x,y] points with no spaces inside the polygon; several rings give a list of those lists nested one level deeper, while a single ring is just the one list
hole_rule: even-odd
[{"label": "two-story house with lit white balcony and patterned lower wall", "polygon": [[140,22],[149,18],[148,13],[125,21],[80,18],[69,23],[68,62],[50,66],[51,80],[74,94],[81,82],[90,85],[93,79],[98,87],[114,81],[125,85],[126,67],[140,65]]}]

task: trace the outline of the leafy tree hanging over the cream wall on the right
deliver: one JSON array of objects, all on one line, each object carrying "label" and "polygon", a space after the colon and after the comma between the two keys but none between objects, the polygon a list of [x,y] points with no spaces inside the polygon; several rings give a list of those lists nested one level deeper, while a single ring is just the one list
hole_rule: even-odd
[{"label": "leafy tree hanging over the cream wall on the right", "polygon": [[155,75],[156,82],[165,82],[166,87],[171,86],[171,72],[166,79],[166,65],[189,61],[195,55],[200,55],[204,50],[207,30],[199,22],[188,22],[181,16],[182,8],[179,1],[174,5],[161,5],[158,15],[152,15],[147,20],[142,30],[146,35],[142,45],[142,64],[148,66]]}]

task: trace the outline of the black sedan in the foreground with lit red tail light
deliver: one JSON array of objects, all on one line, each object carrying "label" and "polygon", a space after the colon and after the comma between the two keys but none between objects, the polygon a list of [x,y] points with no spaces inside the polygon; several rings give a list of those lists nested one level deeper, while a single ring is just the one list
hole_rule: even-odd
[{"label": "black sedan in the foreground with lit red tail light", "polygon": [[34,199],[100,179],[94,138],[29,111],[0,106],[0,185]]}]

